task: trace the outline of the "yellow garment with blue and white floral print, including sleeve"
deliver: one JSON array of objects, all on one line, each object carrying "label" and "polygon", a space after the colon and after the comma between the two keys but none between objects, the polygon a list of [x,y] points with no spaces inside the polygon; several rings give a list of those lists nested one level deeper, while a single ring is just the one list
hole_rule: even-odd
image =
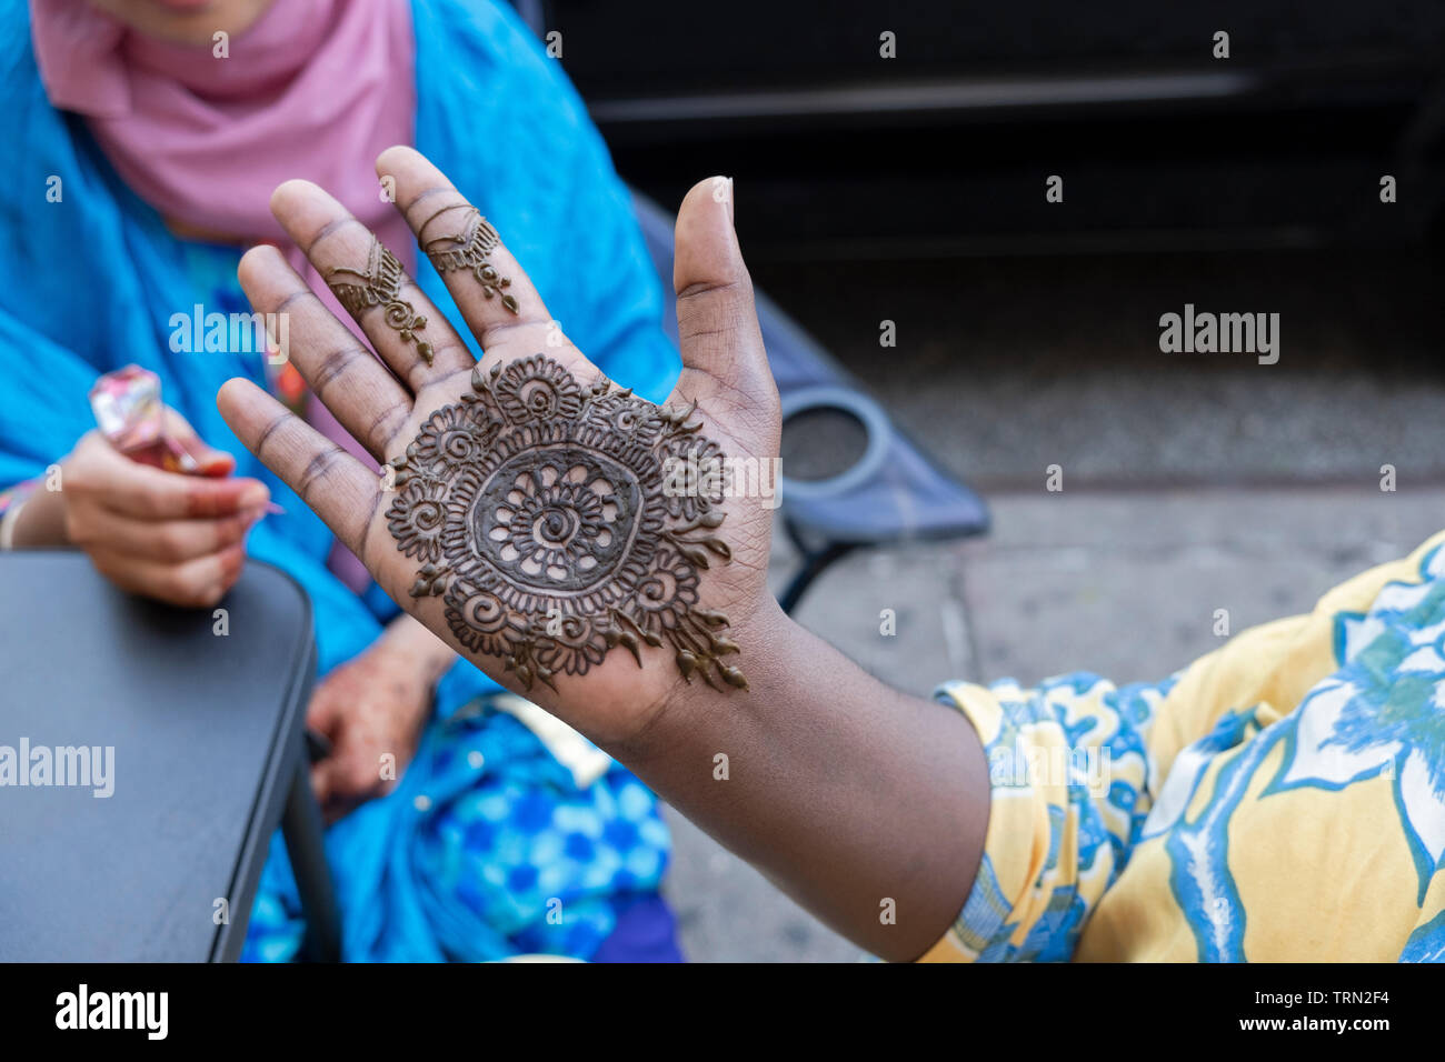
[{"label": "yellow garment with blue and white floral print, including sleeve", "polygon": [[993,803],[925,961],[1445,961],[1442,543],[1159,683],[942,686]]}]

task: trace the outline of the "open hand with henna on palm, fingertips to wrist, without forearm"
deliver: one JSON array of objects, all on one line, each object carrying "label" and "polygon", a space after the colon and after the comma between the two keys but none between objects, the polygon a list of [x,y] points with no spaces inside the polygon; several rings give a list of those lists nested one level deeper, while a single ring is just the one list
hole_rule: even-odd
[{"label": "open hand with henna on palm, fingertips to wrist, without forearm", "polygon": [[293,181],[272,210],[381,361],[277,250],[249,251],[241,285],[257,311],[290,315],[292,361],[387,472],[244,380],[221,389],[227,422],[403,608],[594,740],[627,743],[689,682],[747,696],[749,653],[777,614],[772,509],[733,491],[736,465],[721,459],[770,471],[779,406],[731,185],[699,184],[682,204],[683,370],[653,406],[558,331],[491,225],[425,157],[393,147],[377,172],[483,361],[361,223]]}]

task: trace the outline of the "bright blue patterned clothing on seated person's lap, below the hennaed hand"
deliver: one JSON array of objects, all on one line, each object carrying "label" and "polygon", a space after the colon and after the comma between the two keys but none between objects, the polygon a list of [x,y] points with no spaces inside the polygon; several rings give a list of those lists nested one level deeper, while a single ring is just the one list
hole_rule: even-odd
[{"label": "bright blue patterned clothing on seated person's lap, below the hennaed hand", "polygon": [[[379,842],[380,841],[380,842]],[[579,789],[514,717],[464,709],[428,728],[389,796],[331,828],[347,954],[377,961],[591,957],[668,865],[656,799],[614,766]],[[273,858],[241,955],[289,959],[303,923],[285,847]]]}]

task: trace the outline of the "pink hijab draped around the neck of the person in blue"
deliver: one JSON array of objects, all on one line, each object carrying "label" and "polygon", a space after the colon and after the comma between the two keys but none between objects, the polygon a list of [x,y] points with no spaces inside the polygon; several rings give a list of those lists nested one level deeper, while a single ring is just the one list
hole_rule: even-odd
[{"label": "pink hijab draped around the neck of the person in blue", "polygon": [[410,249],[373,165],[412,142],[403,0],[277,0],[228,58],[142,36],[82,0],[30,0],[30,27],[51,103],[84,114],[120,176],[166,218],[283,243],[267,201],[299,176],[397,254]]}]

